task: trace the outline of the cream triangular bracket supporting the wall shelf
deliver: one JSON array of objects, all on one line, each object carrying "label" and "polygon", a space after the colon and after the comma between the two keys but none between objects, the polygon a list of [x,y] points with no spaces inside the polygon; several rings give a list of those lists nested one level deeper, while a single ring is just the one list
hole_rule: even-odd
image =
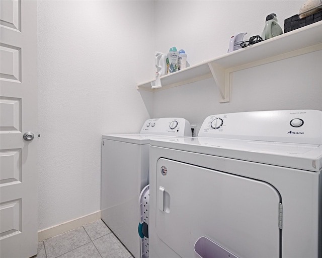
[{"label": "cream triangular bracket supporting the wall shelf", "polygon": [[219,90],[219,102],[229,102],[230,73],[215,62],[208,63],[210,72]]}]

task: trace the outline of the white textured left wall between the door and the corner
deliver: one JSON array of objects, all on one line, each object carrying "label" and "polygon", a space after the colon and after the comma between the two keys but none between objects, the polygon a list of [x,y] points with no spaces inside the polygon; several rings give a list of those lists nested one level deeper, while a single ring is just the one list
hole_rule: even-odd
[{"label": "white textured left wall between the door and the corner", "polygon": [[100,210],[102,134],[150,117],[153,3],[39,1],[38,230]]}]

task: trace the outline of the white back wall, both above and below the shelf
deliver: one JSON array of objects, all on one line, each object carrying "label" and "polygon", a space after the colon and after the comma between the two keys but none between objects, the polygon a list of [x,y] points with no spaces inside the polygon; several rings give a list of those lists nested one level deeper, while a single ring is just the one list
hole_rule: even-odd
[{"label": "white back wall, both above and below the shelf", "polygon": [[[261,35],[265,18],[276,13],[284,19],[298,13],[305,1],[157,1],[156,49],[185,49],[191,65],[227,53],[229,39],[248,32],[245,40]],[[164,26],[174,21],[173,10],[181,19],[176,30]],[[252,110],[322,110],[322,51],[289,58],[233,73],[230,102],[219,103],[213,79],[154,93],[153,115],[183,116],[195,124],[197,132],[211,114]],[[150,77],[151,79],[153,77]]]}]

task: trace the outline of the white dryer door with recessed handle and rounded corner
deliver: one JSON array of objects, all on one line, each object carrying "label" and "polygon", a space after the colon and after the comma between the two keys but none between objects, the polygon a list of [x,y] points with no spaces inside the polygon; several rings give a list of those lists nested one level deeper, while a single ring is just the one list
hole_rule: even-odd
[{"label": "white dryer door with recessed handle and rounded corner", "polygon": [[201,236],[239,258],[280,257],[272,185],[168,159],[158,160],[156,180],[156,233],[181,257],[198,257]]}]

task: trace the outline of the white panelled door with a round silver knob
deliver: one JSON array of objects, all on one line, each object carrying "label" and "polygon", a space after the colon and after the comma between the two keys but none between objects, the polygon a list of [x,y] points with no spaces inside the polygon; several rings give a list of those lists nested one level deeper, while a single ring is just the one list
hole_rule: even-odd
[{"label": "white panelled door with a round silver knob", "polygon": [[0,33],[0,256],[26,258],[37,253],[37,2],[1,0]]}]

